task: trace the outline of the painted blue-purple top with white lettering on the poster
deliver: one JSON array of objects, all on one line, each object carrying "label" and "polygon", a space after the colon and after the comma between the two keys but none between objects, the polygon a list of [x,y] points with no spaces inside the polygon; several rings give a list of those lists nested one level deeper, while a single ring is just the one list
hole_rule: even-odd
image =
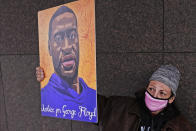
[{"label": "painted blue-purple top with white lettering on the poster", "polygon": [[42,116],[96,123],[96,90],[89,88],[82,78],[79,78],[79,85],[80,94],[53,73],[48,84],[41,89]]}]

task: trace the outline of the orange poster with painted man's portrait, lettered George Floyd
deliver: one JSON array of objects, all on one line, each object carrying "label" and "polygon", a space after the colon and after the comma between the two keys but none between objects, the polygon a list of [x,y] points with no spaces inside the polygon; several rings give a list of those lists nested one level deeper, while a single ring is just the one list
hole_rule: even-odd
[{"label": "orange poster with painted man's portrait, lettered George Floyd", "polygon": [[94,0],[38,12],[42,116],[97,122]]}]

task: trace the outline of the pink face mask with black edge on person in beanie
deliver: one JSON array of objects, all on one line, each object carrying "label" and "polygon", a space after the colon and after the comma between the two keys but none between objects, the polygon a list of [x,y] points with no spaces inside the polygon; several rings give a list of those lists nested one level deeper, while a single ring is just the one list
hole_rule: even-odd
[{"label": "pink face mask with black edge on person in beanie", "polygon": [[145,92],[145,103],[150,111],[158,111],[167,106],[168,99],[162,100],[153,98],[147,91]]}]

